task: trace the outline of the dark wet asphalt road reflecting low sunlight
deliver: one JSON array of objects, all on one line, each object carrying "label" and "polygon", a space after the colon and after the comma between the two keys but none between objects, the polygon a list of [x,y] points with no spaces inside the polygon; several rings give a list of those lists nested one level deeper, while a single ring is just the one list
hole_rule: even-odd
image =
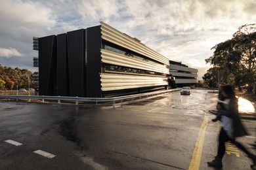
[{"label": "dark wet asphalt road reflecting low sunlight", "polygon": [[[0,102],[0,169],[188,169],[203,118],[214,118],[217,95],[192,90],[161,95],[122,107]],[[256,121],[244,121],[249,148]],[[200,169],[217,151],[220,125],[209,122]],[[6,140],[22,143],[20,146]],[[33,153],[54,154],[46,158]],[[255,154],[256,152],[253,151]],[[244,153],[233,148],[224,169],[250,169]]]}]

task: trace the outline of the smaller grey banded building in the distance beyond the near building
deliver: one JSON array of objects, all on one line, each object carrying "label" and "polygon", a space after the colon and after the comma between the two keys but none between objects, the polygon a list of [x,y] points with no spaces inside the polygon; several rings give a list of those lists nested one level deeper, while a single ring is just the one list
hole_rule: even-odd
[{"label": "smaller grey banded building in the distance beyond the near building", "polygon": [[169,61],[170,75],[175,77],[177,87],[195,86],[198,83],[198,69],[193,69],[177,61]]}]

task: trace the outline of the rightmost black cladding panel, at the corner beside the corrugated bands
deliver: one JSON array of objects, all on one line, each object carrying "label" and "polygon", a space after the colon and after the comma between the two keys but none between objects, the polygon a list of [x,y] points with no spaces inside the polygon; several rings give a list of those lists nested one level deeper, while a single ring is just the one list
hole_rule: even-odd
[{"label": "rightmost black cladding panel, at the corner beside the corrugated bands", "polygon": [[100,26],[87,28],[87,97],[102,97],[100,85],[101,48]]}]

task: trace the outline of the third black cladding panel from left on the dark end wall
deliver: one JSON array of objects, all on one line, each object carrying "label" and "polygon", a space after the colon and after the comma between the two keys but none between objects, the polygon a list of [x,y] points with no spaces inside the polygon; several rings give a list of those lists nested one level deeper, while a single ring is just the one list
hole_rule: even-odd
[{"label": "third black cladding panel from left on the dark end wall", "polygon": [[85,30],[67,33],[70,96],[85,96]]}]

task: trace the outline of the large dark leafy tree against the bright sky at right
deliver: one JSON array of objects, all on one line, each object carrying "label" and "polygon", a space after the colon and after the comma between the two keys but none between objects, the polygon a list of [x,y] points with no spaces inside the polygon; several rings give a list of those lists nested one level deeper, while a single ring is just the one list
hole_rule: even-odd
[{"label": "large dark leafy tree against the bright sky at right", "polygon": [[256,24],[238,28],[232,39],[216,44],[213,56],[205,59],[213,65],[203,76],[209,87],[217,87],[218,80],[233,86],[256,86]]}]

